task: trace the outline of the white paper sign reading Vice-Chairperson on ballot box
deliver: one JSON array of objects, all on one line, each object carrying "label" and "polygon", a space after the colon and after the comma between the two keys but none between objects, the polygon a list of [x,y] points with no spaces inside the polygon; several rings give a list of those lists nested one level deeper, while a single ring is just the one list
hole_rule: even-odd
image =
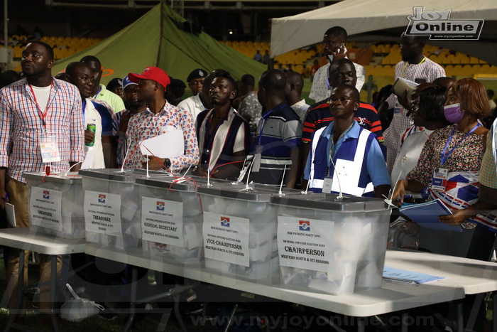
[{"label": "white paper sign reading Vice-Chairperson on ballot box", "polygon": [[204,212],[205,258],[249,267],[249,219]]}]

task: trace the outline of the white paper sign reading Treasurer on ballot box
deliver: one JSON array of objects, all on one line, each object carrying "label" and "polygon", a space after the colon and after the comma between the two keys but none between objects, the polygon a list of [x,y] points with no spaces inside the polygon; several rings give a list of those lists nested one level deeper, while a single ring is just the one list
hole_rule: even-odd
[{"label": "white paper sign reading Treasurer on ballot box", "polygon": [[121,196],[98,191],[84,192],[84,227],[89,232],[123,237]]}]

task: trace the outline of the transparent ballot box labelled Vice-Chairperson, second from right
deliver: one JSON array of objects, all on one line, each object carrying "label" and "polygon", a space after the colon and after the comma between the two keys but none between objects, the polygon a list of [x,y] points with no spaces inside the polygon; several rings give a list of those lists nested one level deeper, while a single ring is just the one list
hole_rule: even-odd
[{"label": "transparent ballot box labelled Vice-Chairperson, second from right", "polygon": [[278,188],[214,183],[198,192],[204,211],[206,269],[271,282],[279,274],[277,209],[270,204]]}]

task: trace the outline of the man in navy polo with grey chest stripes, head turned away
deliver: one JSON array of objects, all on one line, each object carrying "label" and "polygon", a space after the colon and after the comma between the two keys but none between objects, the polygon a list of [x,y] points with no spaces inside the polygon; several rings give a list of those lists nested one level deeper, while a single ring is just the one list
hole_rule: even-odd
[{"label": "man in navy polo with grey chest stripes, head turned away", "polygon": [[300,175],[302,123],[285,102],[285,85],[285,73],[277,69],[267,70],[259,80],[258,100],[266,112],[256,130],[256,151],[249,181],[279,185],[285,173],[285,186],[294,188]]}]

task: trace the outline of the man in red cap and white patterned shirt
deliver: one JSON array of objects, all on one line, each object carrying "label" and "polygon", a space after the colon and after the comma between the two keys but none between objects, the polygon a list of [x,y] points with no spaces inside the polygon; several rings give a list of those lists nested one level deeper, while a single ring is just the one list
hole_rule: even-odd
[{"label": "man in red cap and white patterned shirt", "polygon": [[195,166],[199,162],[199,149],[195,135],[195,121],[190,112],[170,105],[164,99],[165,88],[170,83],[169,76],[157,67],[147,67],[141,75],[129,73],[129,80],[138,83],[136,95],[138,100],[146,102],[147,109],[129,120],[126,134],[129,142],[129,156],[124,163],[125,168],[144,168],[146,158],[138,149],[144,139],[151,139],[164,134],[168,127],[181,129],[185,144],[185,154],[166,159],[150,157],[148,168],[159,170],[166,166],[171,171],[179,172],[182,168]]}]

